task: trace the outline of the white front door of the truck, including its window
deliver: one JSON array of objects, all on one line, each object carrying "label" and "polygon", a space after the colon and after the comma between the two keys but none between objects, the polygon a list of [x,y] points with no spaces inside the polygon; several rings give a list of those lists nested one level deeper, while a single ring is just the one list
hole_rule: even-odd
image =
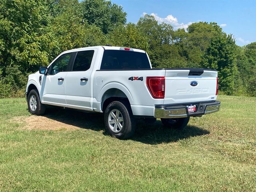
[{"label": "white front door of the truck, including its window", "polygon": [[66,75],[74,53],[67,53],[57,58],[42,77],[42,103],[66,106]]}]

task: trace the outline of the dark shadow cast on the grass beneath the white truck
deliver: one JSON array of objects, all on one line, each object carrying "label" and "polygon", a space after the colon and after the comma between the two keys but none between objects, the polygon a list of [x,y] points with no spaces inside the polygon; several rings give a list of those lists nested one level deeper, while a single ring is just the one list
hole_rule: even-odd
[{"label": "dark shadow cast on the grass beneath the white truck", "polygon": [[[103,131],[104,135],[108,135],[104,130],[103,114],[50,108],[44,116],[51,120],[62,122],[67,126]],[[210,134],[210,132],[196,126],[186,126],[182,130],[175,130],[165,128],[160,120],[151,124],[144,122],[144,120],[138,120],[136,132],[130,139],[145,144],[160,144],[206,134]]]}]

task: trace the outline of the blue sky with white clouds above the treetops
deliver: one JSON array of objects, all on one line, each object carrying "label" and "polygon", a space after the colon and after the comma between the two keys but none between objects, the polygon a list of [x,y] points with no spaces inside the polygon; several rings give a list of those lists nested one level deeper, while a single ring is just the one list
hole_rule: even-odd
[{"label": "blue sky with white clouds above the treetops", "polygon": [[232,34],[236,44],[256,42],[256,0],[111,0],[127,13],[127,22],[137,23],[144,14],[158,22],[187,28],[193,22],[216,22]]}]

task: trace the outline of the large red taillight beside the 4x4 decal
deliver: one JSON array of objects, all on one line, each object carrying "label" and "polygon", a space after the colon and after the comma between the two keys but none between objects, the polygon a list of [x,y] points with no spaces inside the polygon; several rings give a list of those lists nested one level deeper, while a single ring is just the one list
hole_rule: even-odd
[{"label": "large red taillight beside the 4x4 decal", "polygon": [[164,98],[165,77],[147,77],[146,83],[148,90],[153,98]]}]

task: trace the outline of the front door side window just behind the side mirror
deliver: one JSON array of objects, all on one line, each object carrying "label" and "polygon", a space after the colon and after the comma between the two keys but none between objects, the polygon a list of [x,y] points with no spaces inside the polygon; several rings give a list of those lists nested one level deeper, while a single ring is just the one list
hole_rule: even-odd
[{"label": "front door side window just behind the side mirror", "polygon": [[68,62],[73,53],[67,53],[60,56],[56,61],[54,61],[49,70],[49,75],[55,75],[58,72],[66,71],[68,68]]}]

